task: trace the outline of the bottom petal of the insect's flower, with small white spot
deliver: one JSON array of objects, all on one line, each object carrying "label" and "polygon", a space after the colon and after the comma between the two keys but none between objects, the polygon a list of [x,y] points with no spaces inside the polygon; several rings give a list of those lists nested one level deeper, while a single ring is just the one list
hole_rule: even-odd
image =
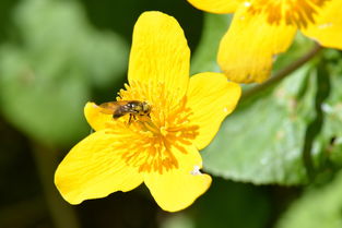
[{"label": "bottom petal of the insect's flower, with small white spot", "polygon": [[179,167],[162,175],[146,173],[145,184],[156,203],[168,212],[177,212],[191,205],[211,184],[211,177],[199,172],[202,158],[193,145],[185,147],[187,154],[173,148]]}]

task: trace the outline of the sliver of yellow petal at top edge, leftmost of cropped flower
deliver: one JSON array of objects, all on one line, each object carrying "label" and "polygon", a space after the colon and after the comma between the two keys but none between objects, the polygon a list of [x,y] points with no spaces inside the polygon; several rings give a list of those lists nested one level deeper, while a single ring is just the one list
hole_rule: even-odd
[{"label": "sliver of yellow petal at top edge, leftmost of cropped flower", "polygon": [[188,0],[193,7],[210,13],[233,13],[239,0]]}]

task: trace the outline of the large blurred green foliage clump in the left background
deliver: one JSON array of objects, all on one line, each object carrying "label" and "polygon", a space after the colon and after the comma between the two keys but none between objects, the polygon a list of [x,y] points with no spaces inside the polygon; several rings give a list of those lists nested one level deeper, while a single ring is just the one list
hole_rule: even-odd
[{"label": "large blurred green foliage clump in the left background", "polygon": [[68,145],[89,131],[92,89],[123,74],[127,44],[91,27],[74,1],[22,1],[13,19],[19,39],[0,47],[1,111],[31,137]]}]

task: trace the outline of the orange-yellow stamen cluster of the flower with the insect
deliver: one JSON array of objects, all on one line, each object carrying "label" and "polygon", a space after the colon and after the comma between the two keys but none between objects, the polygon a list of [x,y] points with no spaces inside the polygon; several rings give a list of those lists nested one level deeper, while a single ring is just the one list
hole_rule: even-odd
[{"label": "orange-yellow stamen cluster of the flower with the insect", "polygon": [[[116,151],[120,151],[126,164],[135,167],[139,172],[163,173],[177,169],[179,167],[177,155],[187,154],[186,146],[191,145],[198,135],[198,127],[191,125],[189,121],[192,111],[186,106],[186,97],[170,104],[163,97],[167,93],[161,85],[158,95],[148,100],[149,96],[143,92],[149,89],[134,89],[129,86],[120,92],[119,99],[148,101],[152,107],[151,117],[137,117],[130,124],[126,122],[129,142]],[[113,130],[115,131],[114,128]]]}]

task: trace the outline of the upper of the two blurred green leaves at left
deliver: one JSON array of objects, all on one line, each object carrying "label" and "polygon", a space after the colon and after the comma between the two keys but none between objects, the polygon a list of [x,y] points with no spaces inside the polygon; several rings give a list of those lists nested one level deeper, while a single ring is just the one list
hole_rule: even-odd
[{"label": "upper of the two blurred green leaves at left", "polygon": [[34,61],[47,61],[46,68],[74,64],[99,87],[113,83],[127,69],[126,41],[93,28],[84,9],[74,1],[28,0],[15,11],[14,21],[24,50]]}]

